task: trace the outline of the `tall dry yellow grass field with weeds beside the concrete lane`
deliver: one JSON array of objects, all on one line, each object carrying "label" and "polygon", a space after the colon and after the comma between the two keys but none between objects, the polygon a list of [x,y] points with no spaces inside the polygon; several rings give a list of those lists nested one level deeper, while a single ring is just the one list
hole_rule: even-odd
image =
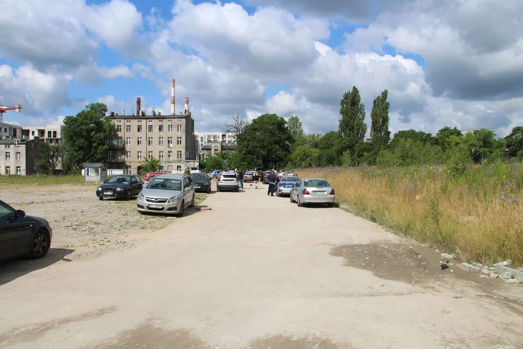
[{"label": "tall dry yellow grass field with weeds beside the concrete lane", "polygon": [[469,262],[523,265],[523,204],[519,165],[448,168],[349,168],[298,171],[323,177],[336,200],[356,215],[395,232],[458,253]]}]

